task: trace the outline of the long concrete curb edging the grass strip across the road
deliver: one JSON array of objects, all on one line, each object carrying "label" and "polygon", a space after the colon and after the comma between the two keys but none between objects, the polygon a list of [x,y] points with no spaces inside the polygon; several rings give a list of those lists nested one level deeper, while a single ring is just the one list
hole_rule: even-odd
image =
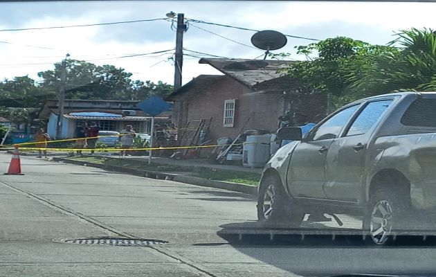
[{"label": "long concrete curb edging the grass strip across the road", "polygon": [[53,157],[53,161],[62,161],[64,163],[71,163],[78,166],[91,166],[93,168],[102,168],[105,170],[111,170],[116,172],[122,172],[130,175],[136,175],[140,177],[152,178],[152,179],[165,179],[171,181],[177,181],[184,184],[191,184],[195,186],[205,186],[208,188],[221,188],[224,190],[231,190],[237,193],[246,193],[248,195],[257,195],[257,187],[249,186],[246,184],[238,184],[226,181],[208,180],[200,177],[193,177],[187,175],[180,175],[174,173],[155,172],[149,170],[138,170],[135,168],[125,168],[122,166],[107,166],[101,163],[90,163],[87,161],[75,161],[71,159],[64,159],[59,157]]}]

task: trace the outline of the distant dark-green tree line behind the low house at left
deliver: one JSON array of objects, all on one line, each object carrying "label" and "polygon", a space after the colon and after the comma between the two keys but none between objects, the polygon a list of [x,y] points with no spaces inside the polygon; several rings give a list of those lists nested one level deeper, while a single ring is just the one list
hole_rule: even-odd
[{"label": "distant dark-green tree line behind the low house at left", "polygon": [[[47,99],[57,98],[62,64],[54,66],[53,70],[38,73],[41,82],[35,82],[27,75],[0,81],[0,116],[14,120],[19,118],[21,123],[30,122],[35,115],[25,114],[23,108],[41,108]],[[91,62],[66,60],[66,71],[66,98],[143,100],[152,95],[165,97],[172,92],[170,84],[131,80],[132,73],[109,64],[97,66]],[[6,107],[21,110],[12,114]]]}]

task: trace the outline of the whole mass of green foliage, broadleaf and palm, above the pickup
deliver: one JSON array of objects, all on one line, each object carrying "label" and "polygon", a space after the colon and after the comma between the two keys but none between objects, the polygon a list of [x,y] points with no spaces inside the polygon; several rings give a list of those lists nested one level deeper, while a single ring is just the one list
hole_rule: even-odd
[{"label": "whole mass of green foliage, broadleaf and palm, above the pickup", "polygon": [[329,111],[367,96],[436,89],[436,35],[432,29],[401,30],[387,45],[334,37],[296,48],[306,60],[292,62],[282,72],[300,78],[303,91],[326,93]]}]

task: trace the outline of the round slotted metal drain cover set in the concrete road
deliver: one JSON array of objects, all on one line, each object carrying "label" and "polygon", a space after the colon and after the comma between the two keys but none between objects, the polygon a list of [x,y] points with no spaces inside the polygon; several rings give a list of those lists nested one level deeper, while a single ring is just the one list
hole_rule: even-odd
[{"label": "round slotted metal drain cover set in the concrete road", "polygon": [[77,238],[77,239],[63,239],[53,240],[55,242],[64,242],[71,244],[97,244],[97,245],[110,245],[114,247],[149,247],[156,244],[168,243],[165,240],[147,240],[147,239],[129,239],[129,238]]}]

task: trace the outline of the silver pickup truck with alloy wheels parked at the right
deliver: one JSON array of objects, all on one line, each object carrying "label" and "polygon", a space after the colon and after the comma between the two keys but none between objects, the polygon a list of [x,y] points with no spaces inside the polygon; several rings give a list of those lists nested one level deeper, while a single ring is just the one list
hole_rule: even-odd
[{"label": "silver pickup truck with alloy wheels parked at the right", "polygon": [[302,138],[278,132],[284,145],[266,165],[257,216],[266,226],[298,228],[306,213],[363,215],[375,244],[421,229],[436,207],[436,92],[391,93],[352,102]]}]

